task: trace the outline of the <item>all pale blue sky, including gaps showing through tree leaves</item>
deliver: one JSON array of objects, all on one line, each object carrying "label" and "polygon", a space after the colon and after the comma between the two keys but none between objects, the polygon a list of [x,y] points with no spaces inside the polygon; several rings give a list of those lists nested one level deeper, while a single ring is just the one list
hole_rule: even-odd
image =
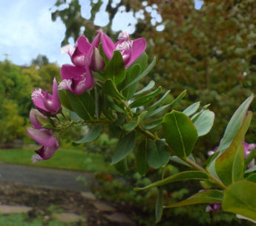
[{"label": "all pale blue sky, including gaps showing through tree leaves", "polygon": [[[85,19],[90,17],[89,1],[79,1],[84,2],[82,16]],[[56,0],[0,0],[0,62],[9,59],[13,64],[29,66],[31,60],[41,54],[47,56],[49,62],[59,65],[68,63],[68,54],[62,54],[60,46],[65,36],[65,25],[60,19],[51,21],[50,10],[54,9],[55,2]],[[201,4],[200,0],[196,0],[195,7],[199,9]],[[96,24],[108,21],[108,15],[103,12],[104,7],[105,4],[101,7],[101,13],[96,15]],[[125,14],[122,10],[124,9],[121,8],[116,16],[112,28],[117,31],[125,27],[132,33],[132,23],[136,21],[132,19],[131,13]],[[151,14],[155,12],[156,10],[151,9]],[[142,12],[137,16],[142,16]],[[125,24],[127,21],[131,21],[131,25]],[[153,22],[155,21],[161,21],[160,16],[155,16]],[[73,44],[72,41],[70,44]]]}]

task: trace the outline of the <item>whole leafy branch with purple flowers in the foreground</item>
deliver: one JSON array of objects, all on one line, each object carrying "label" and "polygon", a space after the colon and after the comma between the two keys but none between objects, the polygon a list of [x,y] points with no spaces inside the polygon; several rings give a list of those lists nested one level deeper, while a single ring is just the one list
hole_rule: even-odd
[{"label": "whole leafy branch with purple flowers in the foreground", "polygon": [[[42,145],[33,161],[53,156],[60,146],[60,136],[72,126],[89,128],[83,138],[75,141],[78,144],[92,142],[104,129],[119,139],[111,162],[119,170],[125,171],[132,152],[142,175],[150,168],[164,169],[171,162],[187,169],[134,188],[138,192],[158,188],[156,222],[164,208],[196,204],[208,204],[207,210],[221,207],[256,222],[256,152],[255,145],[248,147],[245,143],[252,119],[249,105],[254,96],[237,108],[204,168],[193,158],[194,144],[211,130],[214,113],[209,105],[200,107],[200,102],[182,112],[174,110],[186,90],[170,102],[170,90],[162,93],[162,87],[154,87],[154,81],[142,87],[141,79],[156,63],[154,59],[148,65],[145,47],[145,39],[131,40],[127,31],[119,34],[116,43],[98,31],[91,43],[80,36],[74,46],[62,48],[73,63],[62,65],[62,81],[58,84],[53,80],[52,95],[41,89],[32,93],[36,109],[30,112],[32,127],[27,128],[27,133]],[[69,110],[69,116],[62,107]],[[198,180],[202,190],[182,202],[164,203],[163,186],[184,180]]]}]

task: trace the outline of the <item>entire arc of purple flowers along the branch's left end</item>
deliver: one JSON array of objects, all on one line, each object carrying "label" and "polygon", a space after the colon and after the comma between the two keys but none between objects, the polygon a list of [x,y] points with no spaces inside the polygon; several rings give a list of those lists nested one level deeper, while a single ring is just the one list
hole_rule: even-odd
[{"label": "entire arc of purple flowers along the branch's left end", "polygon": [[[143,38],[131,40],[128,31],[119,34],[119,41],[114,43],[105,33],[98,31],[92,43],[85,36],[80,36],[74,46],[68,44],[62,47],[62,53],[68,53],[73,64],[63,64],[61,67],[62,81],[59,85],[53,79],[53,94],[42,89],[35,89],[31,95],[33,104],[37,110],[30,111],[32,127],[27,127],[28,135],[42,145],[36,150],[33,162],[49,159],[59,148],[59,134],[47,129],[41,123],[50,121],[62,113],[62,104],[59,99],[59,90],[69,90],[76,96],[91,90],[96,79],[93,72],[104,72],[104,60],[111,58],[114,51],[122,54],[123,63],[128,68],[145,51],[146,41]],[[100,53],[102,49],[103,53]]]}]

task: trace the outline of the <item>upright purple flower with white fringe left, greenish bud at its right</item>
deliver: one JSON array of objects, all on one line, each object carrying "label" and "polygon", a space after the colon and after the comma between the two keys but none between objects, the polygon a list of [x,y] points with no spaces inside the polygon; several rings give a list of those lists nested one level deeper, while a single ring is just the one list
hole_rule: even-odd
[{"label": "upright purple flower with white fringe left, greenish bud at its right", "polygon": [[105,67],[105,62],[100,56],[99,50],[90,44],[85,36],[80,36],[74,47],[70,44],[62,47],[62,53],[68,53],[71,62],[79,67],[89,65],[90,69],[96,72]]}]

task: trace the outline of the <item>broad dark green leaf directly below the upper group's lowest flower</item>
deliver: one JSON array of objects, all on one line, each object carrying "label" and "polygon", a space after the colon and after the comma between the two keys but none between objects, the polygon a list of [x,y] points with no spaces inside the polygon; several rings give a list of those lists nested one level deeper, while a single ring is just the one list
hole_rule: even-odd
[{"label": "broad dark green leaf directly below the upper group's lowest flower", "polygon": [[66,94],[68,96],[68,100],[73,111],[81,119],[92,119],[95,113],[95,102],[90,93],[85,92],[81,95],[75,95],[70,91],[66,90]]}]

